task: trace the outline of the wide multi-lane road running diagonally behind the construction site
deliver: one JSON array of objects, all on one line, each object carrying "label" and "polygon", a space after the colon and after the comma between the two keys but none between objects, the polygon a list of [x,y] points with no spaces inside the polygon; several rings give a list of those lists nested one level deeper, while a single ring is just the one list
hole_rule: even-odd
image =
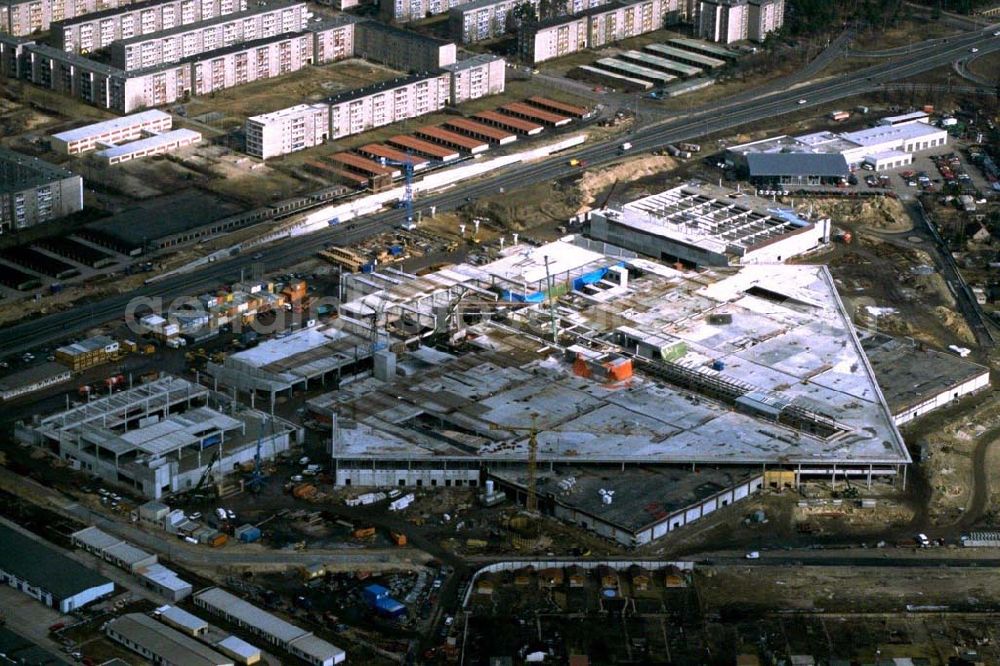
[{"label": "wide multi-lane road running diagonally behind the construction site", "polygon": [[[722,100],[708,111],[693,113],[680,120],[672,120],[651,125],[628,135],[634,152],[644,152],[660,148],[669,143],[687,141],[698,137],[729,130],[756,121],[801,110],[809,106],[820,106],[847,97],[876,89],[885,83],[893,83],[905,77],[947,65],[962,57],[976,46],[980,52],[1000,50],[1000,39],[992,36],[991,29],[956,37],[946,45],[940,45],[933,53],[918,53],[901,57],[887,63],[844,74],[834,79],[803,84],[793,90],[781,89],[762,94],[756,99],[735,101]],[[800,99],[805,100],[799,104]],[[608,164],[619,159],[615,141],[590,144],[567,153],[585,159],[591,167]],[[439,210],[450,210],[465,205],[481,196],[495,193],[504,187],[513,191],[539,182],[551,182],[567,175],[578,173],[566,167],[563,156],[543,162],[516,165],[502,169],[495,175],[484,177],[431,195],[417,201],[418,208],[431,205]],[[349,244],[391,229],[399,224],[405,212],[389,210],[358,219],[349,225],[332,227],[308,236],[301,236],[276,243],[267,250],[265,262],[272,267],[286,266],[311,255],[323,247],[324,243]],[[165,299],[197,293],[199,290],[217,286],[220,283],[238,279],[241,268],[249,268],[254,263],[251,257],[237,257],[229,261],[210,264],[205,269],[190,275],[182,275],[163,280],[154,285],[142,287],[130,294],[106,298],[99,302],[79,305],[72,310],[23,322],[3,329],[0,336],[0,353],[9,354],[32,349],[46,343],[56,342],[87,328],[121,317],[129,302],[139,296],[162,297]]]}]

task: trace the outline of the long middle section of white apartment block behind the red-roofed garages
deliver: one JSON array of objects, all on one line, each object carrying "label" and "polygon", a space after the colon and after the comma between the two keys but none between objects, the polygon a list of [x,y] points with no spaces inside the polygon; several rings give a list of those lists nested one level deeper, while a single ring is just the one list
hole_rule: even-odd
[{"label": "long middle section of white apartment block behind the red-roofed garages", "polygon": [[440,111],[450,78],[447,72],[417,74],[331,97],[330,140]]}]

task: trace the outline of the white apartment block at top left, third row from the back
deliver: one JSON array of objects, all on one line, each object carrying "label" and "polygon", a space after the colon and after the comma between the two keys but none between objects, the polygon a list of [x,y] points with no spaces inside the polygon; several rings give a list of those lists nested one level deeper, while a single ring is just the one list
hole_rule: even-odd
[{"label": "white apartment block at top left, third row from the back", "polygon": [[245,12],[111,44],[111,64],[125,71],[180,62],[234,44],[305,30],[312,14],[304,2],[272,2]]}]

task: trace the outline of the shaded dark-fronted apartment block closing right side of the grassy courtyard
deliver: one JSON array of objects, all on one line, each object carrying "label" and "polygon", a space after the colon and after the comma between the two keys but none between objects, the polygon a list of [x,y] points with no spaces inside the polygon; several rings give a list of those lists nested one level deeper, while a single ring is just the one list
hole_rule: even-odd
[{"label": "shaded dark-fronted apartment block closing right side of the grassy courtyard", "polygon": [[355,25],[354,55],[405,72],[429,72],[452,64],[457,57],[453,42],[377,21]]}]

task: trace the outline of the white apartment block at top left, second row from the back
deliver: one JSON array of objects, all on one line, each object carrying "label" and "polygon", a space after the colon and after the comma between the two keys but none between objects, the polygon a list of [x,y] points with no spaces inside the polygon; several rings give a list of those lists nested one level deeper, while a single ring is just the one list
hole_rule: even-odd
[{"label": "white apartment block at top left, second row from the back", "polygon": [[70,53],[89,53],[131,39],[247,9],[247,0],[147,0],[52,24],[52,39]]}]

